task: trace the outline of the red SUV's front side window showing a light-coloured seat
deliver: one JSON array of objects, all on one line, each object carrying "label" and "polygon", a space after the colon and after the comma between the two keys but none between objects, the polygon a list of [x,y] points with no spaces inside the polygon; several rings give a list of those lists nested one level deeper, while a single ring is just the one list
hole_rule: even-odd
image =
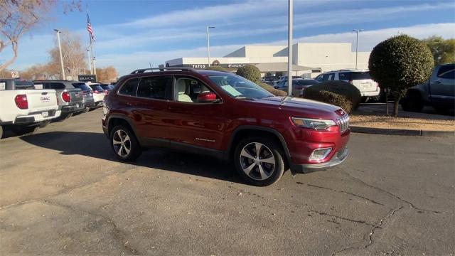
[{"label": "red SUV's front side window showing a light-coloured seat", "polygon": [[213,92],[203,82],[196,78],[176,77],[174,87],[175,98],[179,102],[198,102],[198,95],[203,92]]}]

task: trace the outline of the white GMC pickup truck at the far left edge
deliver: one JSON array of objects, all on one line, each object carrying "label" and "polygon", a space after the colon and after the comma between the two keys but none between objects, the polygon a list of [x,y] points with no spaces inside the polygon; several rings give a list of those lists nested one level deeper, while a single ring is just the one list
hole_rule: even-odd
[{"label": "white GMC pickup truck at the far left edge", "polygon": [[32,133],[59,116],[55,90],[35,89],[29,81],[0,80],[0,138],[6,129]]}]

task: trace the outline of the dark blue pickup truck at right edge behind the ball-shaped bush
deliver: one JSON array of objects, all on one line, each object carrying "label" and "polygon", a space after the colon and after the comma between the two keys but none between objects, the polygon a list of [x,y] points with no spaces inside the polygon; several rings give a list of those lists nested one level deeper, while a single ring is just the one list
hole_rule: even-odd
[{"label": "dark blue pickup truck at right edge behind the ball-shaped bush", "polygon": [[427,82],[411,87],[401,101],[405,111],[420,112],[424,105],[431,105],[439,112],[454,109],[455,63],[438,65]]}]

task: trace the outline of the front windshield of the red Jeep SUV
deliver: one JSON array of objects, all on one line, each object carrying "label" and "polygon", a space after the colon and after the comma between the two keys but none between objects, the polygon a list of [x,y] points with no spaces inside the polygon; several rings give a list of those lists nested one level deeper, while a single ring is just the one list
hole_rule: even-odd
[{"label": "front windshield of the red Jeep SUV", "polygon": [[262,89],[254,82],[242,78],[239,75],[210,75],[208,78],[218,87],[223,89],[231,97],[247,98],[247,99],[262,99],[264,97],[273,97],[272,93]]}]

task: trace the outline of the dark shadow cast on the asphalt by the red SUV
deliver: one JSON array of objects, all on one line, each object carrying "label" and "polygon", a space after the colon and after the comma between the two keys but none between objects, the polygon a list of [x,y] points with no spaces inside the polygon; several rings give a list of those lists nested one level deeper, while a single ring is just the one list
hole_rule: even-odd
[{"label": "dark shadow cast on the asphalt by the red SUV", "polygon": [[[90,156],[119,162],[105,134],[102,133],[45,132],[23,136],[20,139],[45,149],[61,151],[60,154]],[[169,149],[149,149],[144,151],[137,161],[126,164],[244,183],[235,172],[234,166],[228,162]]]}]

